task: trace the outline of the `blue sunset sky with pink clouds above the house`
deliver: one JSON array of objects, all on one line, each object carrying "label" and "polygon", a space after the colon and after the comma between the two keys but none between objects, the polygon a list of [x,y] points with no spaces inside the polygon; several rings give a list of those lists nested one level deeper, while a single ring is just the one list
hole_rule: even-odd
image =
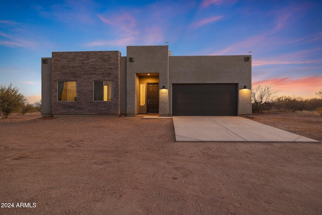
[{"label": "blue sunset sky with pink clouds above the house", "polygon": [[[0,0],[0,85],[41,99],[52,51],[169,45],[173,56],[252,55],[252,88],[316,97],[322,89],[322,1]],[[166,43],[168,42],[168,43]]]}]

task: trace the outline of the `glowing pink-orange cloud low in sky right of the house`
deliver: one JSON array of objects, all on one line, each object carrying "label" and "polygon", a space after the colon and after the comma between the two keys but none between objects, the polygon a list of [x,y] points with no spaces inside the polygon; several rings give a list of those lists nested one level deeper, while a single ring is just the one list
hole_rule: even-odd
[{"label": "glowing pink-orange cloud low in sky right of the house", "polygon": [[315,92],[321,88],[322,77],[303,77],[299,79],[275,78],[267,79],[252,84],[252,88],[259,85],[269,85],[278,91],[279,95],[301,96],[305,98],[314,97]]}]

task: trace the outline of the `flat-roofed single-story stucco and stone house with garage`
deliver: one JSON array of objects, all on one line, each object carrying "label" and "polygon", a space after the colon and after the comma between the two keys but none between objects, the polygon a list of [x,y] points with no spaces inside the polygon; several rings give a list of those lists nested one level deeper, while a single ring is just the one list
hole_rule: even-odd
[{"label": "flat-roofed single-story stucco and stone house with garage", "polygon": [[41,58],[42,115],[250,115],[252,56],[171,56],[165,46]]}]

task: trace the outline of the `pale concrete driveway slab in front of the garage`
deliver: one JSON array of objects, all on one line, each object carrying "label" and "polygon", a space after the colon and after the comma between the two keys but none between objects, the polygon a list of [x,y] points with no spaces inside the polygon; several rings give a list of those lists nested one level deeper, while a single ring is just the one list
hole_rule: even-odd
[{"label": "pale concrete driveway slab in front of the garage", "polygon": [[177,141],[319,142],[238,116],[173,116]]}]

